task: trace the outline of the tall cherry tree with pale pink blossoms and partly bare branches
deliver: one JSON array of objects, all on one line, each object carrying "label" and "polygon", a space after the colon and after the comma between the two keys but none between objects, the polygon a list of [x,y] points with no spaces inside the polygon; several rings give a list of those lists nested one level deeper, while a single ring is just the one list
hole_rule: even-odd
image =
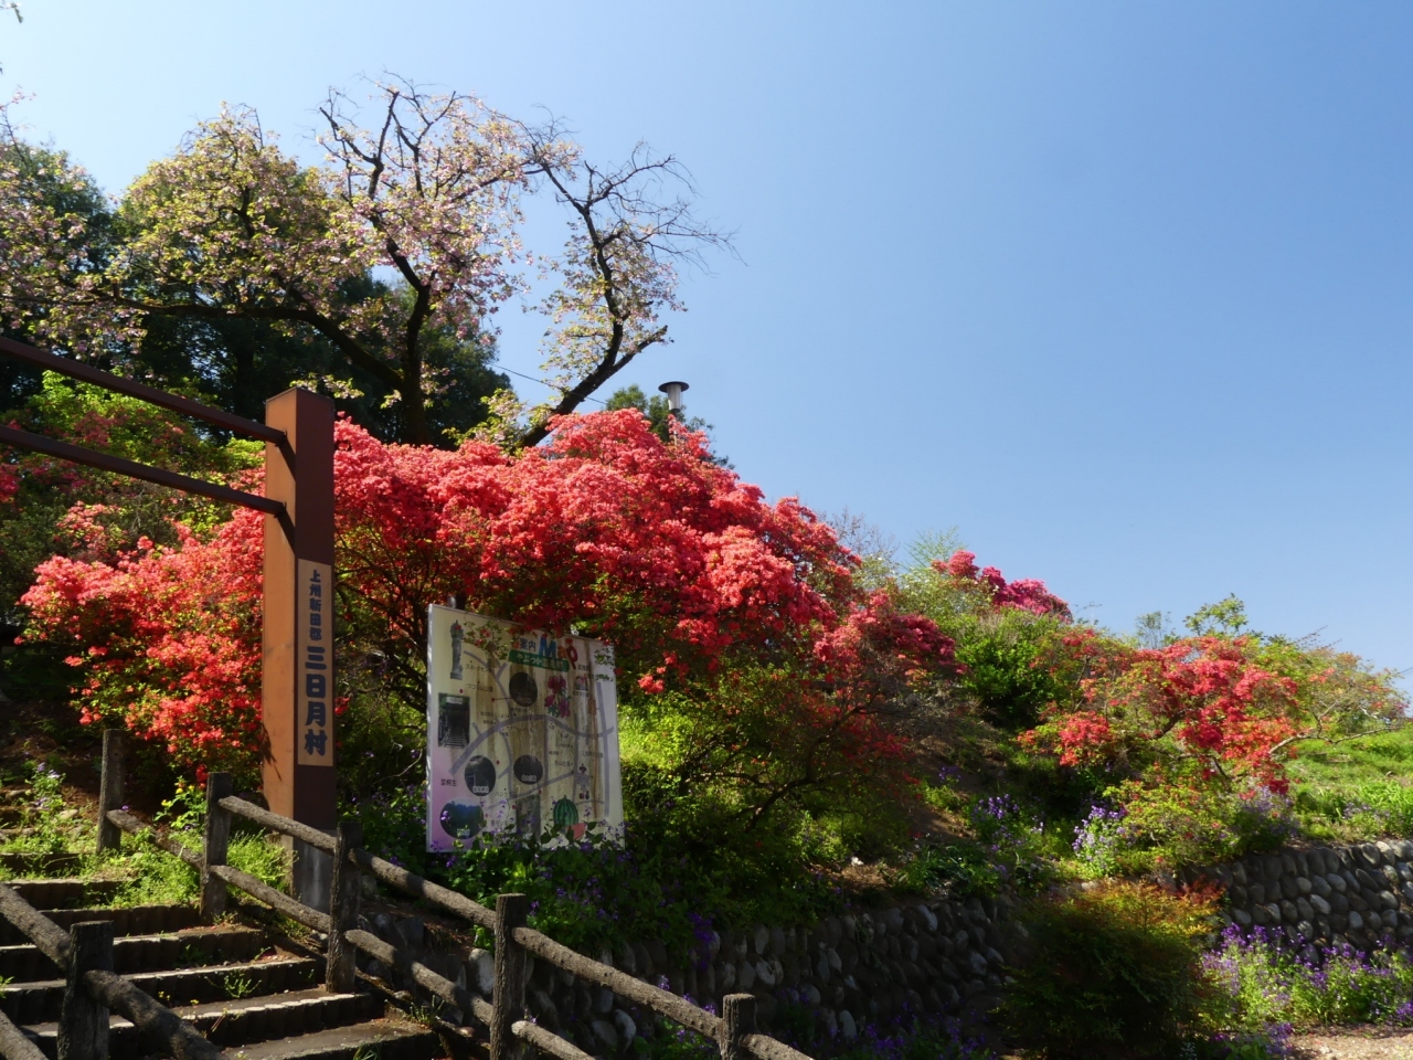
[{"label": "tall cherry tree with pale pink blossoms and partly bare branches", "polygon": [[[304,165],[254,110],[222,109],[134,181],[116,226],[52,194],[90,187],[64,155],[40,174],[0,164],[4,322],[117,360],[141,348],[154,318],[270,322],[331,343],[396,401],[404,440],[428,444],[428,406],[456,370],[454,356],[430,358],[432,338],[493,342],[495,312],[530,293],[534,270],[550,284],[537,308],[555,399],[527,408],[502,393],[487,428],[533,445],[551,416],[667,341],[663,314],[681,308],[677,264],[728,246],[692,216],[681,165],[643,147],[601,167],[554,123],[403,81],[374,85],[367,106],[332,92],[319,113],[325,158]],[[8,123],[3,131],[20,144]],[[534,194],[565,208],[558,253],[521,246],[521,201]]]}]

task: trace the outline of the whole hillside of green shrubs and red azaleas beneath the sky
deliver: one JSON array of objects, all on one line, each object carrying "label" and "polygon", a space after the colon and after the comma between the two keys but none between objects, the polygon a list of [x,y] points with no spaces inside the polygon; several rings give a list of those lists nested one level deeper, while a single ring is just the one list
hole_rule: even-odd
[{"label": "whole hillside of green shrubs and red azaleas beneath the sky", "polygon": [[[187,447],[213,476],[259,475],[242,449],[62,380],[25,413],[100,423],[127,455]],[[16,602],[24,632],[0,674],[27,700],[4,769],[32,806],[0,849],[86,851],[107,725],[133,738],[131,801],[195,834],[208,770],[247,789],[257,775],[259,520],[10,466],[0,547],[32,550],[52,520],[54,553]],[[1123,635],[948,537],[897,561],[856,526],[766,503],[704,435],[634,407],[564,420],[521,454],[387,445],[343,423],[338,490],[342,810],[414,871],[483,899],[527,892],[533,923],[589,953],[656,938],[682,955],[712,927],[1006,892],[1030,899],[1036,948],[1000,1018],[1054,1057],[1139,1056],[1135,1042],[1275,1056],[1277,1016],[1402,1012],[1388,984],[1405,964],[1338,957],[1354,987],[1334,1005],[1325,979],[1249,940],[1204,954],[1218,896],[1139,882],[1301,838],[1407,834],[1413,734],[1393,674],[1252,630],[1232,598],[1181,632],[1150,618]],[[425,852],[420,616],[468,585],[475,609],[617,646],[622,841],[548,830]],[[233,858],[281,875],[254,838]],[[167,861],[83,854],[78,869],[123,881],[114,900],[189,900],[189,872]],[[1304,1001],[1252,994],[1267,965],[1306,984]],[[1130,987],[1163,999],[1142,1026],[1133,1006],[1101,1003]],[[1037,1037],[1075,1012],[1092,1019]],[[904,1030],[897,1049],[981,1054]]]}]

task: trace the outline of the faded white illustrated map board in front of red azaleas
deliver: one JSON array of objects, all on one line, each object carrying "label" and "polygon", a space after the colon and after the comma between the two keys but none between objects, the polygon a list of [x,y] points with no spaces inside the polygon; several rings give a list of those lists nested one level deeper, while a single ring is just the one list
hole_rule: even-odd
[{"label": "faded white illustrated map board in front of red azaleas", "polygon": [[623,828],[613,649],[468,611],[427,615],[427,849]]}]

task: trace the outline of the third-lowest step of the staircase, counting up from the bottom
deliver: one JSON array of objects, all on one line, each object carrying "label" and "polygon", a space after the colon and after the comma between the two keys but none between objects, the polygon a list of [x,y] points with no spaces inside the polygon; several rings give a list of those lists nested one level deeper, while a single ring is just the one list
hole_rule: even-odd
[{"label": "third-lowest step of the staircase, counting up from the bottom", "polygon": [[[136,972],[129,978],[164,1005],[196,1005],[244,996],[309,989],[324,974],[324,961],[276,957],[244,964]],[[16,1023],[44,1023],[59,1018],[64,979],[0,988],[0,1012]]]}]

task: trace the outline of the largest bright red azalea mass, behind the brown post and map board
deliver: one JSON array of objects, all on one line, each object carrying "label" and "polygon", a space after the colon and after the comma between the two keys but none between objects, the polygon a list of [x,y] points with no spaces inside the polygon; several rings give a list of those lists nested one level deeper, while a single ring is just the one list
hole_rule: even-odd
[{"label": "largest bright red azalea mass, behind the brown post and map board", "polygon": [[[547,445],[514,455],[387,445],[346,420],[336,431],[339,644],[355,698],[376,687],[420,714],[427,605],[462,595],[483,613],[613,642],[623,687],[644,701],[779,711],[805,726],[791,738],[808,745],[810,770],[877,769],[900,748],[876,707],[951,663],[930,619],[855,587],[855,560],[827,524],[796,500],[766,503],[697,434],[664,444],[632,410],[567,417]],[[85,649],[71,661],[88,719],[122,718],[181,767],[253,770],[260,526],[237,512],[174,547],[38,568],[30,636]],[[764,676],[769,695],[716,698]],[[762,758],[762,736],[735,759]]]}]

